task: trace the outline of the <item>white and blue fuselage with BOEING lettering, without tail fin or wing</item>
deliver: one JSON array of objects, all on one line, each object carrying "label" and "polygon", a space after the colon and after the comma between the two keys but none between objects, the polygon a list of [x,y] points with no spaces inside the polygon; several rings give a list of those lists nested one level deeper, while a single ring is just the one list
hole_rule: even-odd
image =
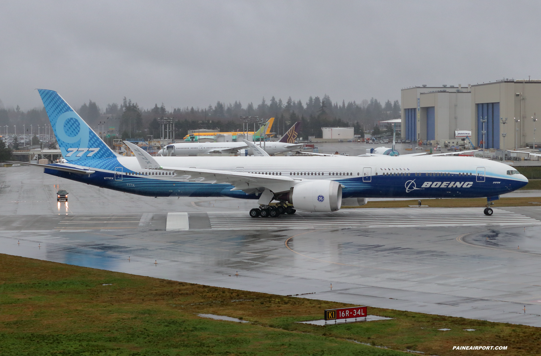
[{"label": "white and blue fuselage with BOEING lettering, without tail fin or wing", "polygon": [[[509,165],[472,157],[155,157],[162,166],[286,176],[302,180],[336,180],[343,198],[479,198],[509,193],[527,184]],[[45,173],[154,197],[233,197],[257,199],[232,191],[233,185],[198,182],[171,172],[141,169],[135,157],[104,158],[82,167],[80,175],[45,169]],[[92,160],[98,161],[98,160]],[[100,169],[107,166],[107,169]],[[511,173],[510,173],[511,172]]]}]

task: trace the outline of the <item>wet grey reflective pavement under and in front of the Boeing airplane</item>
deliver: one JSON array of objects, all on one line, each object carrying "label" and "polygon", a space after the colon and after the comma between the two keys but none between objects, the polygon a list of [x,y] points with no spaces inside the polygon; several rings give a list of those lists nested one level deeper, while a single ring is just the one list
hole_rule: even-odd
[{"label": "wet grey reflective pavement under and in front of the Boeing airplane", "polygon": [[[411,208],[252,219],[255,201],[139,197],[33,167],[0,168],[0,184],[2,253],[541,326],[539,207],[492,217],[482,208]],[[57,203],[57,184],[68,204]]]}]

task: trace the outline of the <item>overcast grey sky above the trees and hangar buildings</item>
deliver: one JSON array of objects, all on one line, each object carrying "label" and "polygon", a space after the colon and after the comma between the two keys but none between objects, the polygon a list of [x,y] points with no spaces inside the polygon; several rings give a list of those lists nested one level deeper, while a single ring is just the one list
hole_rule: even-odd
[{"label": "overcast grey sky above the trees and hangar buildings", "polygon": [[541,79],[541,6],[518,1],[0,0],[0,99],[148,108],[265,96],[400,99],[413,85]]}]

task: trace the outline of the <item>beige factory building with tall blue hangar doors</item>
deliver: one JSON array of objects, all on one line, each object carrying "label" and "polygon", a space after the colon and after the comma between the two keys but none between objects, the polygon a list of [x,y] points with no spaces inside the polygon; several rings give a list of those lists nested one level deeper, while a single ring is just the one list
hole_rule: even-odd
[{"label": "beige factory building with tall blue hangar doors", "polygon": [[[401,91],[401,105],[406,140],[453,144],[458,142],[454,131],[467,130],[479,146],[484,124],[485,148],[510,150],[533,145],[534,125],[541,124],[534,121],[541,117],[541,80],[413,86]],[[541,142],[541,135],[536,142]]]}]

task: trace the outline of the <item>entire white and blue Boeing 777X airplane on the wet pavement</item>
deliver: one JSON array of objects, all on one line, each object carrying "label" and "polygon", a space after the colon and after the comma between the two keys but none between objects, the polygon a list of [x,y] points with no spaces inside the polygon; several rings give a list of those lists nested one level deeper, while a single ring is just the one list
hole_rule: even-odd
[{"label": "entire white and blue Boeing 777X airplane on the wet pavement", "polygon": [[[472,157],[271,157],[245,141],[250,157],[151,157],[129,142],[135,157],[113,152],[52,90],[38,90],[66,163],[38,165],[77,182],[153,197],[232,197],[257,200],[252,217],[295,209],[332,212],[366,198],[479,198],[492,200],[528,180],[506,164]],[[28,164],[28,163],[25,163]],[[36,164],[31,164],[36,165]],[[278,204],[270,205],[276,200]]]}]

